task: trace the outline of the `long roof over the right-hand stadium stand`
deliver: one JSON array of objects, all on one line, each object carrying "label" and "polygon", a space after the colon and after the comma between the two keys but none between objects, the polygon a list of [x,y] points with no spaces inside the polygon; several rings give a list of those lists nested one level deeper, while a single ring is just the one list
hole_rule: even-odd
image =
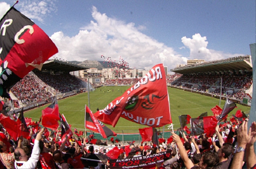
[{"label": "long roof over the right-hand stadium stand", "polygon": [[171,69],[172,72],[179,74],[191,74],[191,73],[206,73],[206,72],[228,72],[248,70],[252,71],[252,59],[251,56],[238,56],[234,58],[228,58],[223,60],[217,60],[212,62],[204,62],[200,64],[194,64],[189,66],[182,66]]}]

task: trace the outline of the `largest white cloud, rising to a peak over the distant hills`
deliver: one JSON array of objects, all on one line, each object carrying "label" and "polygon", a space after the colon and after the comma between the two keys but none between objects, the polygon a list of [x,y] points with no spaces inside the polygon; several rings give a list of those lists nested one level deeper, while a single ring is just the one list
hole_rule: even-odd
[{"label": "largest white cloud, rising to a peak over the distant hills", "polygon": [[63,32],[51,36],[59,49],[58,58],[102,60],[101,55],[104,55],[119,62],[121,56],[130,68],[146,69],[159,63],[168,66],[168,70],[175,68],[176,64],[185,64],[173,48],[142,34],[139,31],[141,26],[136,28],[134,23],[109,18],[96,7],[92,7],[92,17],[94,20],[81,28],[76,36],[68,37]]}]

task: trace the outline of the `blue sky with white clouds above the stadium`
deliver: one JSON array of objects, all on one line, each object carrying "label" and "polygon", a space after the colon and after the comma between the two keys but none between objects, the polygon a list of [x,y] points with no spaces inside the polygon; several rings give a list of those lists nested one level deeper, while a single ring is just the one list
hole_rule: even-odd
[{"label": "blue sky with white clouds above the stadium", "polygon": [[[15,2],[0,0],[0,18]],[[65,61],[162,63],[170,71],[187,60],[250,55],[256,41],[255,0],[19,0],[14,7],[56,44],[52,58]]]}]

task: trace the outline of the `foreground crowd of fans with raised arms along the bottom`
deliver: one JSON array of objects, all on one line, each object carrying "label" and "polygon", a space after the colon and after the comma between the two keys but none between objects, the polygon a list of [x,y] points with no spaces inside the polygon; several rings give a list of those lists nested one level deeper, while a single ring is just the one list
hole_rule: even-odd
[{"label": "foreground crowd of fans with raised arms along the bottom", "polygon": [[[210,137],[206,133],[192,136],[188,130],[172,131],[169,139],[158,139],[159,145],[152,142],[136,144],[134,141],[128,144],[118,141],[106,143],[102,140],[95,141],[93,134],[87,137],[66,135],[62,139],[61,129],[40,129],[38,123],[29,126],[28,137],[21,136],[18,141],[14,141],[4,127],[0,126],[0,168],[14,168],[14,165],[15,168],[22,168],[32,163],[31,166],[34,167],[30,168],[38,169],[105,169],[110,165],[107,162],[109,159],[132,159],[149,155],[157,157],[154,154],[165,151],[171,151],[171,156],[146,168],[255,168],[256,122],[252,122],[249,129],[247,126],[248,119],[244,117],[241,120],[218,123],[216,132]],[[115,151],[112,151],[114,148]],[[114,153],[118,153],[117,156]],[[97,154],[102,154],[101,157],[108,160],[100,161]],[[25,160],[23,157],[26,157]]]}]

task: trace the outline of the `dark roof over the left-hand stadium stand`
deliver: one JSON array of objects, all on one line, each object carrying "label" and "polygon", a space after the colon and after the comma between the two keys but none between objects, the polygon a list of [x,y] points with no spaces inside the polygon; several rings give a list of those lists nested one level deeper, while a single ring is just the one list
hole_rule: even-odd
[{"label": "dark roof over the left-hand stadium stand", "polygon": [[50,70],[50,71],[55,71],[55,72],[74,72],[78,70],[86,70],[89,68],[86,68],[84,66],[78,66],[76,64],[68,63],[68,62],[63,62],[60,60],[47,60],[44,62],[42,71],[43,70]]}]

